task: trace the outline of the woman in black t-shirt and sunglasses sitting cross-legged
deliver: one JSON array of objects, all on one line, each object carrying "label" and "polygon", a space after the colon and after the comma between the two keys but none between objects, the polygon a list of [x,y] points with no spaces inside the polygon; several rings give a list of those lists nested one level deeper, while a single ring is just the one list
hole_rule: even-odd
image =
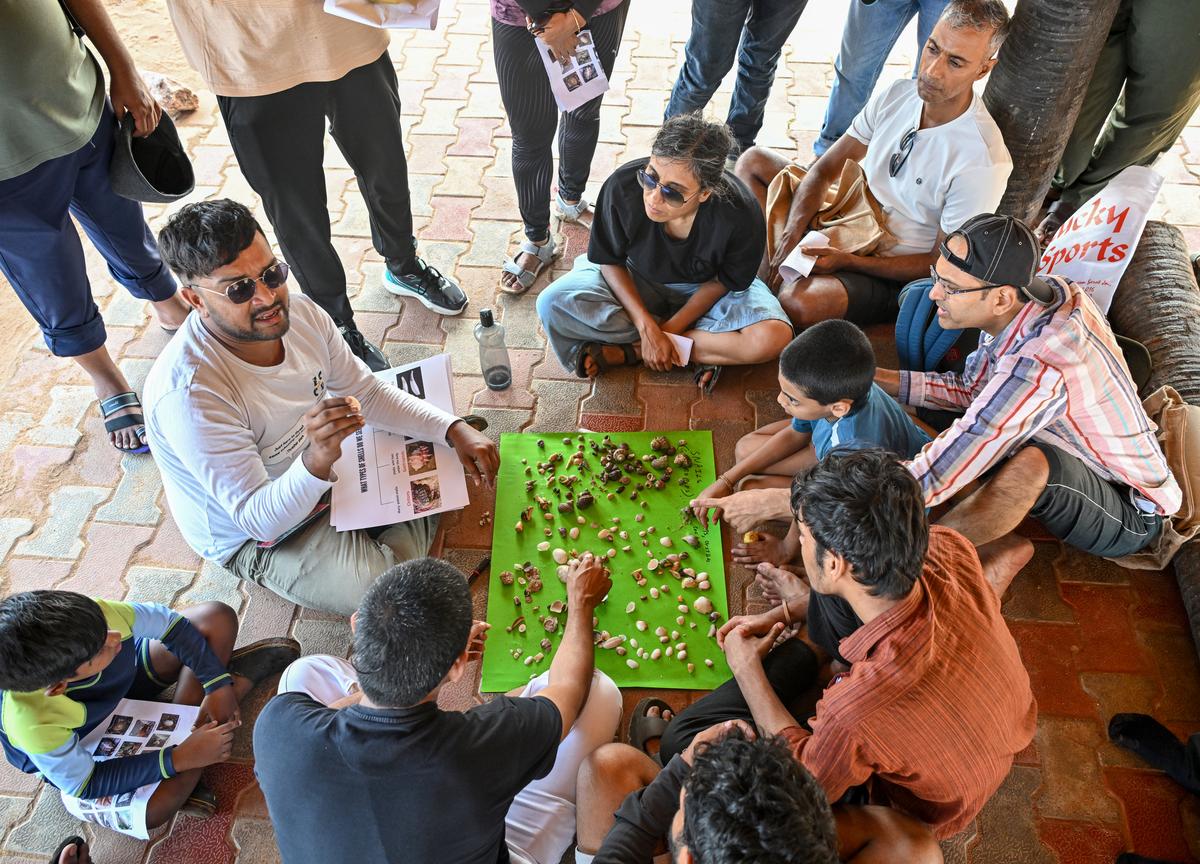
[{"label": "woman in black t-shirt and sunglasses sitting cross-legged", "polygon": [[757,277],[762,209],[725,170],[732,137],[698,114],[671,118],[648,158],[600,188],[586,256],[538,296],[538,317],[564,368],[682,365],[672,336],[692,341],[696,383],[721,367],[779,356],[792,325]]}]

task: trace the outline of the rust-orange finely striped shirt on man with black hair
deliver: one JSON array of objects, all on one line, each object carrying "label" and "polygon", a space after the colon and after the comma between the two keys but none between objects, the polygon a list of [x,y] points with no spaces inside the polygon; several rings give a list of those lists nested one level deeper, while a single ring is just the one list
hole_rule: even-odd
[{"label": "rust-orange finely striped shirt on man with black hair", "polygon": [[851,664],[817,702],[812,732],[782,731],[829,800],[871,799],[962,830],[1033,739],[1037,703],[974,547],[934,526],[912,593],[841,641]]}]

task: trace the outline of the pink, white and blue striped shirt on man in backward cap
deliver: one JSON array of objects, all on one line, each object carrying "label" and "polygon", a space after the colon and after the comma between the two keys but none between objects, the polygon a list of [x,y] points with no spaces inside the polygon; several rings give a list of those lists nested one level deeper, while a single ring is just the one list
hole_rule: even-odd
[{"label": "pink, white and blue striped shirt on man in backward cap", "polygon": [[998,336],[980,334],[961,374],[900,372],[900,402],[966,412],[908,463],[925,503],[1038,440],[1175,514],[1182,493],[1104,313],[1079,286],[1046,281],[1054,302],[1027,302]]}]

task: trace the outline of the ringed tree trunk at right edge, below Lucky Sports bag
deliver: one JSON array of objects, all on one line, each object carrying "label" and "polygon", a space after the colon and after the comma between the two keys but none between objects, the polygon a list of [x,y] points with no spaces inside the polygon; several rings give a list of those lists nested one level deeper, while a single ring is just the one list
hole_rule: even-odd
[{"label": "ringed tree trunk at right edge, below Lucky Sports bag", "polygon": [[[1170,384],[1192,404],[1200,404],[1198,276],[1180,230],[1148,222],[1109,308],[1112,329],[1150,349],[1154,373],[1147,391]],[[1180,550],[1171,566],[1200,652],[1200,540]]]}]

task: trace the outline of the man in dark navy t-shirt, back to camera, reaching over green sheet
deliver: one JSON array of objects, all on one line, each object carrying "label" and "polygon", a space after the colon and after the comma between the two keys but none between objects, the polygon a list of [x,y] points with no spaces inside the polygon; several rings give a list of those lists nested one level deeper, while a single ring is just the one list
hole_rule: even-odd
[{"label": "man in dark navy t-shirt, back to camera, reaching over green sheet", "polygon": [[620,692],[594,671],[592,613],[612,586],[569,566],[550,671],[517,697],[438,708],[482,652],[462,574],[404,562],[350,619],[353,664],[292,664],[254,726],[254,772],[284,864],[557,864],[575,835],[575,779],[612,740]]}]

